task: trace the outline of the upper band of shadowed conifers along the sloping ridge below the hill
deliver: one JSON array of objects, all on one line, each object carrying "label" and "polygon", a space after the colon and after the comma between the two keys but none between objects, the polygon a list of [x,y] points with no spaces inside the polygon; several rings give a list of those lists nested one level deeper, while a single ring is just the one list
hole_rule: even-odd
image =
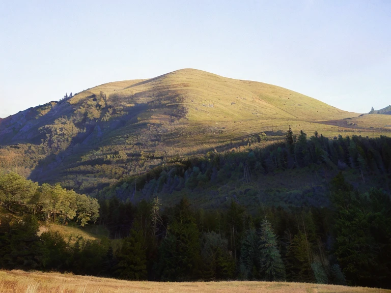
[{"label": "upper band of shadowed conifers along the sloping ridge below the hill", "polygon": [[[202,192],[210,185],[255,182],[268,174],[307,167],[315,169],[317,177],[326,183],[339,170],[351,170],[362,184],[381,186],[386,192],[391,190],[391,138],[386,136],[339,135],[330,139],[317,132],[311,137],[303,131],[294,135],[289,128],[284,141],[266,148],[248,143],[254,148],[246,152],[208,152],[202,157],[167,159],[165,165],[141,175],[123,177],[117,184],[102,188],[97,197],[116,196],[126,201],[135,192],[150,199],[181,190]],[[371,182],[373,178],[376,182]]]}]

